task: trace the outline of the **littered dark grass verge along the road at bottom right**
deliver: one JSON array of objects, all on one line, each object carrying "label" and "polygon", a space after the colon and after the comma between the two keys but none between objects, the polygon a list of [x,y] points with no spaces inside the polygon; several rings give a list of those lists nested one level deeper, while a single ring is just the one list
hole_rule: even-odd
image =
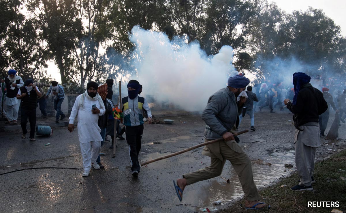
[{"label": "littered dark grass verge along the road at bottom right", "polygon": [[[220,213],[237,212],[277,212],[277,213],[327,213],[334,208],[346,211],[346,149],[334,154],[329,159],[315,164],[313,191],[296,192],[290,190],[298,184],[298,173],[283,178],[279,183],[261,190],[261,201],[271,205],[268,210],[245,210],[244,199],[235,202],[232,206]],[[287,185],[286,187],[280,187]],[[339,207],[308,207],[309,201],[333,201],[339,202]]]}]

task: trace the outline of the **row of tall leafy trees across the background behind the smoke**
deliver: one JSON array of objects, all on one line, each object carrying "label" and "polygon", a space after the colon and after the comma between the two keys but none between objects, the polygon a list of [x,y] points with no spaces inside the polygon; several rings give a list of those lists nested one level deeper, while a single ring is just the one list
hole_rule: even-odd
[{"label": "row of tall leafy trees across the background behind the smoke", "polygon": [[[322,10],[287,14],[266,0],[0,0],[0,69],[85,87],[131,66],[134,26],[198,42],[207,55],[233,47],[239,72],[265,79],[292,59],[322,76],[345,74],[346,38]],[[231,56],[230,56],[231,57]]]}]

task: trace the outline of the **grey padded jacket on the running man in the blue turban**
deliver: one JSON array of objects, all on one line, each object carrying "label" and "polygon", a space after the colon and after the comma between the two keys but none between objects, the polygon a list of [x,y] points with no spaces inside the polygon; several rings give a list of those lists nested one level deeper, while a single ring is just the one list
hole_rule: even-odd
[{"label": "grey padded jacket on the running man in the blue turban", "polygon": [[234,93],[227,87],[215,92],[202,113],[202,119],[207,124],[204,137],[209,140],[218,139],[236,128],[242,108],[243,106],[238,107]]}]

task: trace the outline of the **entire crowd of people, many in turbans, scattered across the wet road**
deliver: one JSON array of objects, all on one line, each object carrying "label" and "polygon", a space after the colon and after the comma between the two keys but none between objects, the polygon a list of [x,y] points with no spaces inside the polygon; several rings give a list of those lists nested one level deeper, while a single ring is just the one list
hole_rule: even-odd
[{"label": "entire crowd of people, many in turbans, scattered across the wet road", "polygon": [[[40,111],[44,118],[47,117],[45,110],[47,97],[54,99],[56,110],[56,122],[66,116],[61,111],[64,100],[64,88],[58,82],[52,81],[51,85],[34,83],[27,79],[25,82],[16,75],[15,70],[9,70],[8,77],[1,80],[6,87],[3,114],[6,113],[8,123],[17,123],[18,109],[21,106],[22,139],[26,138],[27,120],[30,123],[31,141],[35,141],[36,107],[40,105]],[[226,160],[233,165],[245,193],[245,207],[248,209],[269,208],[270,206],[260,202],[260,197],[254,183],[251,161],[248,155],[238,145],[239,138],[234,135],[242,119],[247,114],[251,118],[251,130],[256,131],[254,125],[254,112],[256,107],[262,111],[269,106],[270,112],[274,113],[277,105],[280,110],[287,108],[293,115],[296,128],[295,161],[300,177],[299,184],[291,190],[311,191],[315,182],[313,178],[314,159],[316,148],[320,146],[320,137],[325,136],[326,125],[329,118],[329,109],[333,108],[340,112],[339,120],[343,120],[346,114],[346,90],[338,94],[337,106],[335,96],[329,91],[337,90],[333,79],[330,84],[322,87],[322,92],[314,88],[310,83],[311,78],[302,72],[293,74],[293,87],[285,87],[283,83],[273,84],[270,81],[248,86],[249,79],[243,75],[236,75],[228,79],[228,86],[210,96],[206,108],[202,112],[202,119],[206,123],[204,130],[205,141],[223,138],[224,141],[212,143],[203,148],[203,155],[211,158],[209,167],[186,173],[174,181],[174,189],[180,201],[186,186],[198,181],[207,180],[219,176]],[[100,150],[110,135],[112,146],[116,146],[114,137],[124,139],[125,133],[129,147],[131,173],[137,177],[140,172],[138,155],[141,149],[141,139],[144,131],[144,118],[148,123],[152,122],[151,109],[147,100],[140,97],[143,86],[137,80],[130,80],[127,84],[128,96],[121,99],[122,107],[112,101],[113,80],[107,79],[106,83],[98,85],[90,81],[83,94],[76,97],[69,118],[68,130],[74,131],[74,123],[78,122],[78,138],[80,142],[83,168],[83,177],[89,176],[90,169],[101,169],[104,166],[100,159]],[[47,93],[42,89],[49,87]],[[340,85],[340,88],[343,86]],[[339,89],[340,89],[339,88]],[[2,90],[4,91],[4,90]],[[1,94],[2,95],[2,94]],[[4,94],[3,94],[4,95]],[[20,102],[21,101],[21,105]],[[122,121],[124,127],[120,128]]]}]

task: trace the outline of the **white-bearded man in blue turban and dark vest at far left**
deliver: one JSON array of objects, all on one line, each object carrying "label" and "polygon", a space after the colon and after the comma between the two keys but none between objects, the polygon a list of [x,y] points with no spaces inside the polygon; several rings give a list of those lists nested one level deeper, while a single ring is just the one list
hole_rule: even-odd
[{"label": "white-bearded man in blue turban and dark vest at far left", "polygon": [[[16,70],[9,70],[8,76],[1,79],[6,84],[6,98],[3,102],[9,123],[17,124],[18,110],[20,101],[17,99],[19,88],[24,86],[24,82],[20,76],[16,75]],[[8,123],[8,122],[6,122]]]}]

